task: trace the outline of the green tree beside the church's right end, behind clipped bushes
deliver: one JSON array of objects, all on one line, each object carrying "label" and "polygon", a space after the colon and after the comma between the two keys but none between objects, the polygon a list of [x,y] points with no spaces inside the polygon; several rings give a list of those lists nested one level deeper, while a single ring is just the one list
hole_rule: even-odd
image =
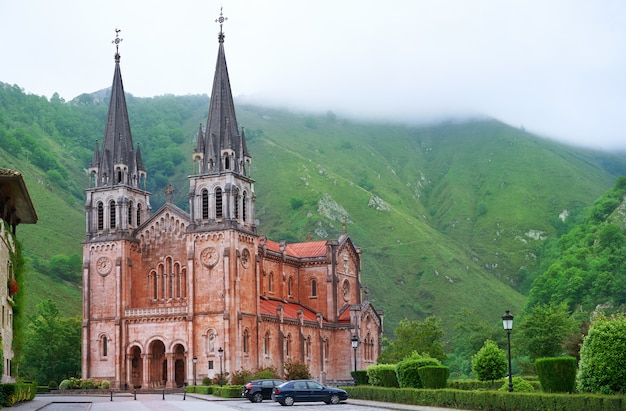
[{"label": "green tree beside the church's right end, behind clipped bushes", "polygon": [[441,322],[430,316],[424,321],[400,321],[395,330],[395,340],[385,340],[383,352],[378,357],[378,363],[395,364],[410,356],[413,352],[427,354],[438,360],[445,360],[441,337],[443,330]]}]

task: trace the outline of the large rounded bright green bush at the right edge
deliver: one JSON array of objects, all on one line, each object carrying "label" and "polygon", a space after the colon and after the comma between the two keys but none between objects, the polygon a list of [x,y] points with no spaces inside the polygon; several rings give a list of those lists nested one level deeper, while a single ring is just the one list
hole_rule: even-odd
[{"label": "large rounded bright green bush at the right edge", "polygon": [[600,315],[580,349],[578,390],[603,394],[626,392],[626,317]]}]

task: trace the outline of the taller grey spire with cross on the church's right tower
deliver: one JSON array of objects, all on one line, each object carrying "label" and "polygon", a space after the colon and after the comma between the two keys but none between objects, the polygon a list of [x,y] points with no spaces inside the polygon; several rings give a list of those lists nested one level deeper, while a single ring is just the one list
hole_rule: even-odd
[{"label": "taller grey spire with cross on the church's right tower", "polygon": [[245,136],[239,132],[235,116],[235,104],[230,87],[226,55],[224,53],[224,22],[228,20],[220,10],[220,16],[215,21],[220,25],[217,36],[219,48],[211,102],[207,125],[202,136],[202,143],[198,141],[196,153],[201,154],[201,174],[234,172],[247,175],[246,165],[251,158],[245,144]]}]

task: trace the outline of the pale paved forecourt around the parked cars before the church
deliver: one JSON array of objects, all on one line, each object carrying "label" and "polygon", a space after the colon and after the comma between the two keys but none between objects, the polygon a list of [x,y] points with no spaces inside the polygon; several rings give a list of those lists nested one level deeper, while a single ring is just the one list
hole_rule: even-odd
[{"label": "pale paved forecourt around the parked cars before the church", "polygon": [[[33,401],[22,402],[11,407],[15,411],[232,411],[240,408],[238,404],[249,404],[247,400],[226,399],[212,395],[165,393],[137,394],[114,393],[113,401],[109,395],[55,395],[37,394]],[[210,402],[210,407],[207,407]],[[402,411],[451,411],[451,408],[426,407],[385,402],[348,399],[348,404],[364,409],[388,409]],[[263,404],[272,404],[264,401]],[[272,404],[274,405],[274,404]],[[254,404],[259,409],[260,404]],[[280,407],[282,408],[282,407]],[[343,408],[345,409],[345,408]],[[460,410],[462,411],[462,410]]]}]

